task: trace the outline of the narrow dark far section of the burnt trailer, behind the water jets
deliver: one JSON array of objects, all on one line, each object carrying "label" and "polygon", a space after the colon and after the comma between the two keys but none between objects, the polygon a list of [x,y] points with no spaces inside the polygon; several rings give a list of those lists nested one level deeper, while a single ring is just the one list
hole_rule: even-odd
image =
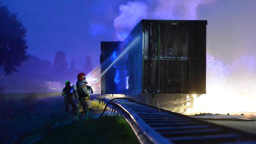
[{"label": "narrow dark far section of the burnt trailer, behind the water jets", "polygon": [[[100,66],[103,73],[111,65],[111,55],[118,49],[120,41],[101,42]],[[101,94],[116,94],[115,68],[111,67],[101,77]]]}]

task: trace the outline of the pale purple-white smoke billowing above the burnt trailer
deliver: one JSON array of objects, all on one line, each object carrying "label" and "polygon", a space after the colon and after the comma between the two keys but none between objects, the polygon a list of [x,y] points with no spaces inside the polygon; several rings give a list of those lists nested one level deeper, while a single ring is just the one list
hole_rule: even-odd
[{"label": "pale purple-white smoke billowing above the burnt trailer", "polygon": [[216,0],[157,0],[147,5],[141,1],[119,6],[119,16],[114,20],[117,40],[124,40],[142,19],[196,20],[200,4]]}]

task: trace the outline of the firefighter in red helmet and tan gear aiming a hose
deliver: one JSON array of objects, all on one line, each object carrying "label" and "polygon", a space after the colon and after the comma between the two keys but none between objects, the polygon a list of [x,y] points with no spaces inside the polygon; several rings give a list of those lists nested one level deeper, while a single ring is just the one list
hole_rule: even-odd
[{"label": "firefighter in red helmet and tan gear aiming a hose", "polygon": [[78,114],[77,119],[82,119],[82,116],[86,110],[86,118],[88,116],[88,113],[90,110],[92,110],[91,100],[90,100],[90,94],[93,93],[93,90],[90,86],[87,86],[86,81],[86,75],[84,73],[79,73],[77,75],[77,82],[76,82],[76,88],[77,93],[79,96],[79,108],[78,108]]}]

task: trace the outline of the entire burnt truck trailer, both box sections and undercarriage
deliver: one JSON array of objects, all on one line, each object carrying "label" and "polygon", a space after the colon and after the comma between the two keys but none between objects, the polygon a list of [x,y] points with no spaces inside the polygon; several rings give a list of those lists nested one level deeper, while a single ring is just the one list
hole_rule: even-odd
[{"label": "entire burnt truck trailer, both box sections and undercarriage", "polygon": [[193,106],[192,95],[206,93],[206,25],[202,20],[142,20],[124,41],[101,42],[104,71],[104,65],[139,37],[102,77],[102,94],[124,93],[140,102],[185,112]]}]

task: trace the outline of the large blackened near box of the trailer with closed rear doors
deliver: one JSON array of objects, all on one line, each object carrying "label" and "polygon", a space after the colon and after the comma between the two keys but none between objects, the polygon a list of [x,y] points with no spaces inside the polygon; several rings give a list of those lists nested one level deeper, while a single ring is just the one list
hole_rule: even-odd
[{"label": "large blackened near box of the trailer with closed rear doors", "polygon": [[207,21],[142,20],[122,43],[131,95],[206,93]]}]

